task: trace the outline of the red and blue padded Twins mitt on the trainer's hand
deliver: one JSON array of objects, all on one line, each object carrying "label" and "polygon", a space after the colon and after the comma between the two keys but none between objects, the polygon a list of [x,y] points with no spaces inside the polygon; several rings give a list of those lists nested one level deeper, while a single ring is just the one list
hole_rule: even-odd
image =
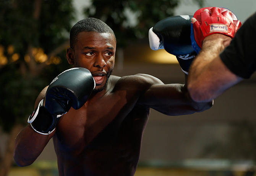
[{"label": "red and blue padded Twins mitt on the trainer's hand", "polygon": [[194,13],[191,19],[191,42],[194,50],[199,53],[206,36],[220,33],[233,38],[241,27],[241,22],[232,11],[226,8],[206,7]]}]

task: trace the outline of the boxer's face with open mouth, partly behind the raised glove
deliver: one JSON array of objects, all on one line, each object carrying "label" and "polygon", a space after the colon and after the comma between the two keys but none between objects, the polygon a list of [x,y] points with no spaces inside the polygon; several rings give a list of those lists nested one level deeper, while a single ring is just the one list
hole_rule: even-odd
[{"label": "boxer's face with open mouth, partly behind the raised glove", "polygon": [[91,71],[94,91],[104,89],[115,63],[115,37],[110,33],[80,32],[73,52],[74,66]]}]

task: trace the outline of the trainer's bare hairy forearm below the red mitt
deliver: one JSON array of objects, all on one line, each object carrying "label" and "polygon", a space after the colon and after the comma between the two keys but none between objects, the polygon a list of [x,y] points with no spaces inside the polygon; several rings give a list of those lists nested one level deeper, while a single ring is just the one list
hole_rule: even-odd
[{"label": "trainer's bare hairy forearm below the red mitt", "polygon": [[216,85],[211,79],[217,71],[214,70],[213,63],[230,41],[230,37],[222,34],[214,34],[205,38],[202,49],[191,64],[188,75],[188,91],[194,101],[210,100],[206,94],[212,94],[210,89],[214,89]]}]

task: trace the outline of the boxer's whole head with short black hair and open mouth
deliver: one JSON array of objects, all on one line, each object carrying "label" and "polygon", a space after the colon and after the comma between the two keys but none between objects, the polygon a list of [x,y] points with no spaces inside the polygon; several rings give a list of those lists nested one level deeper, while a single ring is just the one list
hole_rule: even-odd
[{"label": "boxer's whole head with short black hair and open mouth", "polygon": [[96,92],[104,89],[113,71],[116,43],[113,30],[99,19],[83,19],[70,31],[68,62],[74,67],[91,71],[96,82]]}]

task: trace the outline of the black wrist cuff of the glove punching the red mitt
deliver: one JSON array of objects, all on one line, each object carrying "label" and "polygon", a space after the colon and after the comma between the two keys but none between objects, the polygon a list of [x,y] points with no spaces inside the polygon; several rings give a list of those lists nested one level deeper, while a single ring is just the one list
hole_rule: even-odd
[{"label": "black wrist cuff of the glove punching the red mitt", "polygon": [[190,65],[195,57],[196,57],[196,52],[191,52],[190,54],[176,56],[180,64],[181,70],[187,75],[188,75],[188,70],[190,68]]}]

